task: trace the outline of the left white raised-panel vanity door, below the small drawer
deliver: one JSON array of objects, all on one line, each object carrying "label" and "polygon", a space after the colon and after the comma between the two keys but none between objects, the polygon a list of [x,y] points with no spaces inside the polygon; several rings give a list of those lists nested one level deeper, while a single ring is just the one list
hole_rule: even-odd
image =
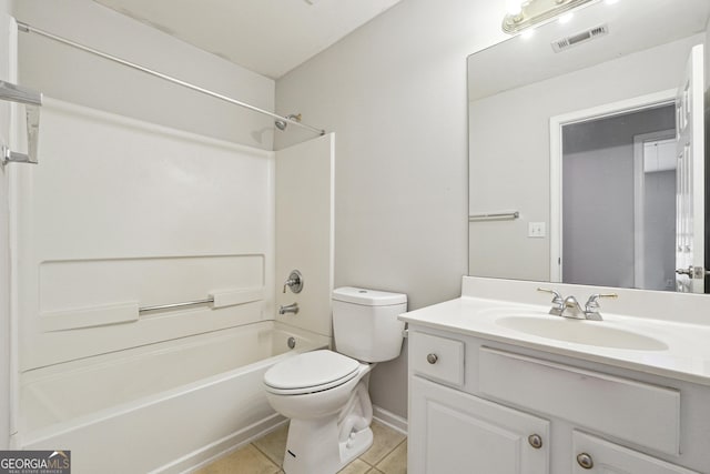
[{"label": "left white raised-panel vanity door, below the small drawer", "polygon": [[409,474],[548,472],[547,420],[418,376],[409,390]]}]

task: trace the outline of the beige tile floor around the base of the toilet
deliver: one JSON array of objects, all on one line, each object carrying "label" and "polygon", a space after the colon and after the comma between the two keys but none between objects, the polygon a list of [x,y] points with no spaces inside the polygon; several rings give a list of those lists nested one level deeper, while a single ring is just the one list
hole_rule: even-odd
[{"label": "beige tile floor around the base of the toilet", "polygon": [[[376,421],[373,421],[372,430],[372,447],[345,466],[341,474],[406,474],[406,436]],[[195,474],[283,474],[281,465],[284,461],[287,433],[288,425],[284,425],[214,461]]]}]

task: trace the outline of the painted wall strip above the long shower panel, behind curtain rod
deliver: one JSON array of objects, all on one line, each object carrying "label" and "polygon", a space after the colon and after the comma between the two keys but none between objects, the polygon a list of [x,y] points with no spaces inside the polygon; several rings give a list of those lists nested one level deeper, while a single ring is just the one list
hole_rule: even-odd
[{"label": "painted wall strip above the long shower panel, behind curtain rod", "polygon": [[[274,109],[274,81],[91,0],[21,0],[18,21]],[[36,34],[20,33],[20,82],[49,97],[272,150],[273,120]]]}]

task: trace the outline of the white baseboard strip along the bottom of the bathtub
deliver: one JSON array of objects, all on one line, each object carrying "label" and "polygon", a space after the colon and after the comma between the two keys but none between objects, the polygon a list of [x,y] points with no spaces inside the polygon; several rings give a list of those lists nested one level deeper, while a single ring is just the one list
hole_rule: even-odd
[{"label": "white baseboard strip along the bottom of the bathtub", "polygon": [[288,420],[280,414],[273,414],[265,420],[254,423],[244,430],[225,436],[215,443],[204,446],[201,450],[194,451],[172,463],[164,465],[158,470],[152,471],[151,474],[178,474],[178,473],[191,473],[201,467],[211,464],[213,461],[239,450],[242,446],[250,444],[251,442],[258,440],[267,433],[278,428]]}]

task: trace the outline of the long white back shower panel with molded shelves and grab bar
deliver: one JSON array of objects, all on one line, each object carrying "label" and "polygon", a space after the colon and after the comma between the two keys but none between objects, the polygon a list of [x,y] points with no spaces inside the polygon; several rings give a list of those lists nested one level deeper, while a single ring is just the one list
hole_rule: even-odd
[{"label": "long white back shower panel with molded shelves and grab bar", "polygon": [[22,371],[273,319],[273,152],[48,99],[39,161],[12,210]]}]

